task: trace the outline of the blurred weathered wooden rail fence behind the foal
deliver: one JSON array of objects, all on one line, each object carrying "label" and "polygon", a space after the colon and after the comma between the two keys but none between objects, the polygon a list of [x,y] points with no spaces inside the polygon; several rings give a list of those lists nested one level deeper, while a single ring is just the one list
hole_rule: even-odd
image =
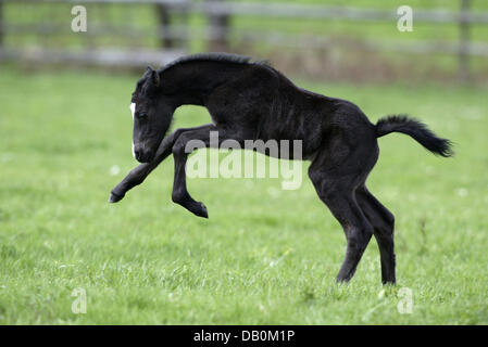
[{"label": "blurred weathered wooden rail fence behind the foal", "polygon": [[[159,48],[138,48],[137,50],[102,47],[72,51],[64,47],[36,49],[29,47],[8,46],[5,37],[38,33],[48,37],[65,29],[64,24],[55,23],[16,23],[15,18],[8,18],[2,9],[9,3],[26,3],[32,11],[39,3],[72,3],[99,5],[154,5],[158,13],[159,28],[149,35],[159,40]],[[436,25],[455,24],[459,26],[458,41],[412,41],[412,40],[366,40],[362,47],[371,51],[393,51],[412,54],[441,53],[456,55],[459,62],[459,76],[461,79],[470,78],[470,57],[488,56],[488,44],[471,41],[471,28],[474,25],[488,25],[488,13],[475,13],[470,10],[470,0],[460,0],[458,12],[446,10],[415,10],[414,24],[433,23]],[[171,18],[178,15],[180,18],[189,14],[200,14],[208,18],[207,25],[192,28],[182,20],[183,24],[174,24]],[[175,56],[189,51],[190,38],[199,38],[209,42],[209,50],[226,51],[232,41],[233,18],[252,16],[259,18],[284,18],[300,21],[351,21],[351,22],[389,22],[396,27],[398,14],[396,9],[358,9],[350,7],[306,5],[297,3],[276,2],[234,2],[224,0],[0,0],[0,60],[29,59],[49,62],[74,62],[83,64],[110,64],[139,66],[162,64]],[[71,21],[71,16],[66,16]],[[126,25],[90,25],[88,36],[126,37],[138,40],[148,35],[138,28]],[[280,31],[252,30],[237,35],[247,42],[260,42],[273,47],[290,47],[300,49],[329,49],[339,44],[328,37],[313,35],[285,34]]]}]

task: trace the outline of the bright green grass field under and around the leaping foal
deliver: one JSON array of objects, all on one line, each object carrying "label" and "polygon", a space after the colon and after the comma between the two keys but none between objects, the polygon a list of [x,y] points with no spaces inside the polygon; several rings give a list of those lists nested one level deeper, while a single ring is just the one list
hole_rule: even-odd
[{"label": "bright green grass field under and around the leaping foal", "polygon": [[[306,178],[296,191],[277,179],[189,180],[204,220],[171,202],[168,158],[109,205],[136,165],[136,80],[0,67],[0,323],[488,323],[486,90],[299,83],[372,120],[410,113],[456,143],[443,159],[401,134],[379,140],[368,187],[397,217],[399,282],[380,294],[374,241],[352,282],[334,282],[345,237]],[[175,127],[203,121],[204,108],[186,106]],[[397,310],[401,287],[411,314]],[[86,314],[71,310],[75,288]]]}]

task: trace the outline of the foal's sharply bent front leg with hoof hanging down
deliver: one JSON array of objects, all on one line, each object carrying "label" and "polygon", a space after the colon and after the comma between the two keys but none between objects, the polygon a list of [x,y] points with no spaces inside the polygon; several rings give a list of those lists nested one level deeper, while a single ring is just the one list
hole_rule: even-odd
[{"label": "foal's sharply bent front leg with hoof hanging down", "polygon": [[[211,131],[218,131],[218,144],[222,143],[222,141],[228,139],[237,140],[240,143],[238,139],[229,137],[228,130],[223,130],[214,125],[211,125],[208,128],[202,128],[182,133],[173,146],[173,157],[175,159],[175,178],[172,193],[173,202],[182,205],[192,214],[204,218],[209,218],[205,205],[195,201],[191,197],[190,193],[188,193],[186,187],[185,166],[188,155],[190,154],[189,152],[195,150],[195,147],[186,149],[186,146],[189,141],[198,140],[200,144],[203,143],[205,147],[210,147],[211,145],[213,145],[213,143],[210,143]],[[187,150],[189,152],[187,152]]]}]

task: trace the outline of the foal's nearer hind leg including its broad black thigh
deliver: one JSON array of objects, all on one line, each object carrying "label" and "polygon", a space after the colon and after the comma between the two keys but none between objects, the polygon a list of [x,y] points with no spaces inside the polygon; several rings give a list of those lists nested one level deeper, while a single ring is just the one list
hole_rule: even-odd
[{"label": "foal's nearer hind leg including its broad black thigh", "polygon": [[373,235],[373,226],[358,204],[355,190],[366,180],[378,157],[376,137],[367,128],[329,131],[309,168],[318,197],[342,226],[346,258],[337,275],[349,281]]}]

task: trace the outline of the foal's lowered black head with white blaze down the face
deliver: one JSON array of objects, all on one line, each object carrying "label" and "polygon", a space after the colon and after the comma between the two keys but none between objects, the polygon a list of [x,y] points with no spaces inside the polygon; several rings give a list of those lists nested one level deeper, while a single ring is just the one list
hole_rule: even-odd
[{"label": "foal's lowered black head with white blaze down the face", "polygon": [[139,79],[130,101],[133,113],[133,154],[140,163],[149,163],[170,128],[175,111],[170,98],[162,93],[157,70],[148,67]]}]

